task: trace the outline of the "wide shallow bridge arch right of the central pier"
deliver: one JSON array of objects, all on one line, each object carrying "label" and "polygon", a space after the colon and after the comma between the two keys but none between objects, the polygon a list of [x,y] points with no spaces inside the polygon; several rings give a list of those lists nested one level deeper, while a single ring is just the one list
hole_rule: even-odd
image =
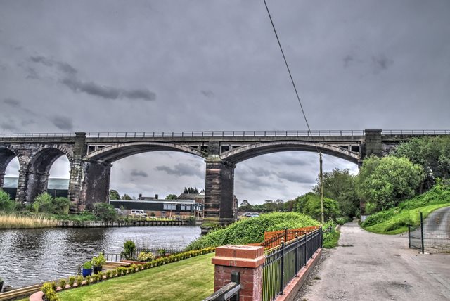
[{"label": "wide shallow bridge arch right of the central pier", "polygon": [[226,153],[221,153],[220,158],[233,164],[237,164],[259,155],[282,151],[321,151],[324,154],[333,155],[355,164],[358,164],[359,160],[361,160],[361,155],[359,153],[348,151],[339,146],[309,141],[271,141],[255,143],[248,146],[241,146],[240,148],[227,151]]}]

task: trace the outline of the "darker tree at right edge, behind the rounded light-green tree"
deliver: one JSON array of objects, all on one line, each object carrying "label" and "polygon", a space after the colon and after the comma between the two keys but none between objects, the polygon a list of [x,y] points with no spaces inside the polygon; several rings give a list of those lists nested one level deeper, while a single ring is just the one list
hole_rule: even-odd
[{"label": "darker tree at right edge, behind the rounded light-green tree", "polygon": [[450,179],[450,137],[423,136],[401,143],[394,150],[397,157],[406,157],[425,170],[423,186],[430,189],[437,178]]}]

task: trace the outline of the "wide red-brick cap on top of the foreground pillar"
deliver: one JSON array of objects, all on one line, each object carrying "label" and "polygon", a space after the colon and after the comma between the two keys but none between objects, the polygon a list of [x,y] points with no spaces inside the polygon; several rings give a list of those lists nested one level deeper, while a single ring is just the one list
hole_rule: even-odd
[{"label": "wide red-brick cap on top of the foreground pillar", "polygon": [[225,267],[257,268],[264,264],[264,247],[255,245],[223,245],[216,248],[212,264]]}]

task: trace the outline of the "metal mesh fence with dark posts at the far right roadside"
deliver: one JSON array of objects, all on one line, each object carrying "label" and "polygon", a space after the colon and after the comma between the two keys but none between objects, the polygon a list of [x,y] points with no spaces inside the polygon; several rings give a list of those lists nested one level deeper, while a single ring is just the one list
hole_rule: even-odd
[{"label": "metal mesh fence with dark posts at the far right roadside", "polygon": [[420,225],[408,227],[409,248],[422,253],[450,253],[450,207],[431,212],[426,219],[420,212]]}]

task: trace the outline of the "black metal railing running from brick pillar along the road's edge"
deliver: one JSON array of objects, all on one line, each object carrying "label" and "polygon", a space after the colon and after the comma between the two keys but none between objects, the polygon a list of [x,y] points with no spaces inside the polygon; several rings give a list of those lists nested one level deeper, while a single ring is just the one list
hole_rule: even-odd
[{"label": "black metal railing running from brick pillar along the road's edge", "polygon": [[322,247],[322,229],[297,236],[266,253],[262,276],[262,300],[275,300],[314,253]]}]

